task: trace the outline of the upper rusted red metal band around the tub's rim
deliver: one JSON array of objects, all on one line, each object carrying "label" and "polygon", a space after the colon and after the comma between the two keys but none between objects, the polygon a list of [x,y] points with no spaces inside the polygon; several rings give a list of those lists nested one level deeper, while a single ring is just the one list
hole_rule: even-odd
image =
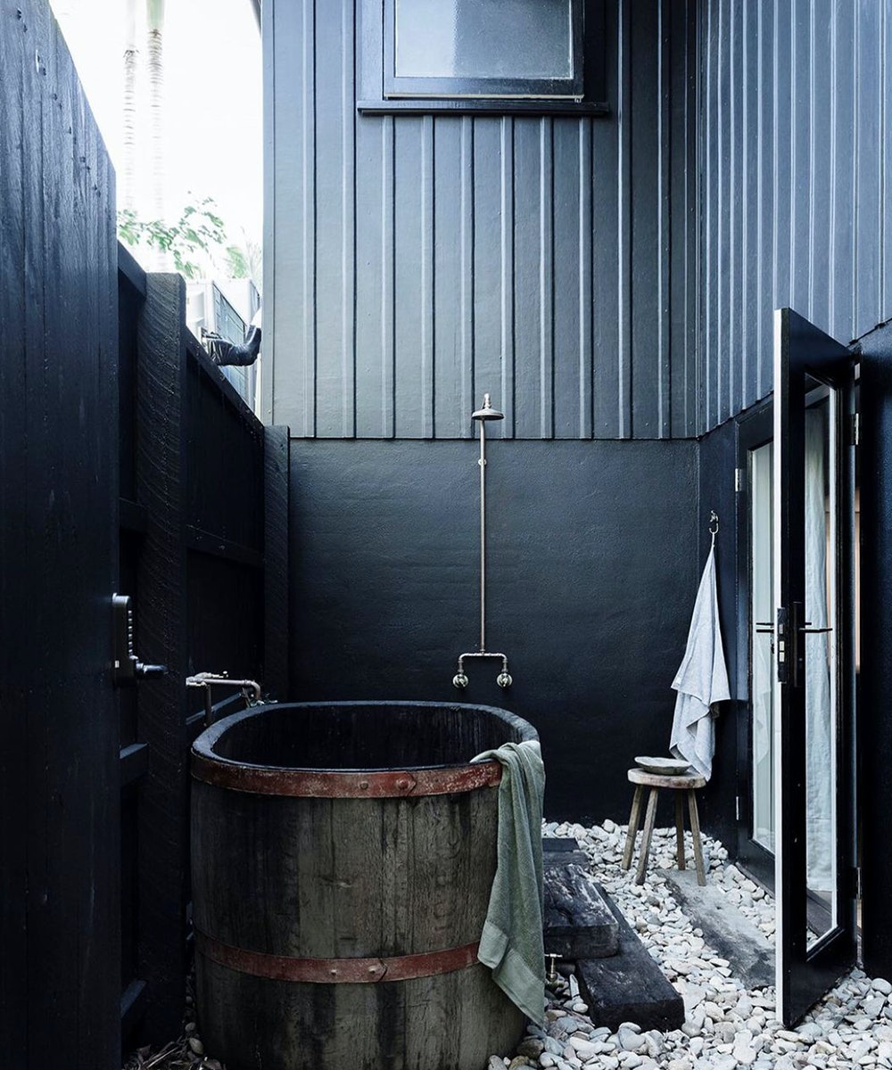
[{"label": "upper rusted red metal band around the tub's rim", "polygon": [[279,769],[237,762],[215,762],[193,751],[196,780],[252,795],[297,798],[400,798],[409,795],[453,795],[493,788],[502,779],[498,762],[474,762],[437,769],[383,769],[374,773]]}]

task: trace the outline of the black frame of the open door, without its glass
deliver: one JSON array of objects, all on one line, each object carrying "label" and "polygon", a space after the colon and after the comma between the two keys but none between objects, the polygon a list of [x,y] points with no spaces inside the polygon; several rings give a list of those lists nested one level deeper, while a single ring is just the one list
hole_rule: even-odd
[{"label": "black frame of the open door, without its glass", "polygon": [[[789,308],[775,314],[774,366],[774,524],[775,605],[777,607],[777,683],[775,718],[780,720],[778,762],[781,807],[776,814],[777,1013],[785,1025],[796,1024],[857,960],[853,781],[857,775],[851,750],[855,723],[855,591],[851,535],[853,523],[853,442],[846,427],[853,414],[853,354],[846,347]],[[837,505],[836,648],[841,675],[836,704],[837,767],[836,918],[830,931],[808,945],[806,896],[805,805],[805,605],[804,547],[804,412],[807,379],[838,389],[836,478],[843,496]],[[793,475],[796,473],[796,475]],[[780,540],[780,553],[778,541]],[[783,644],[783,654],[782,654]],[[843,779],[845,776],[845,779]]]}]

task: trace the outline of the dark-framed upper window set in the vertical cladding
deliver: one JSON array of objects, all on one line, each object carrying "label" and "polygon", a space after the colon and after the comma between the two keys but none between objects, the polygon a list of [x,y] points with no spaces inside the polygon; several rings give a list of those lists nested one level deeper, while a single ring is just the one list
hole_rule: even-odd
[{"label": "dark-framed upper window set in the vertical cladding", "polygon": [[360,110],[606,111],[603,0],[364,0],[363,14]]}]

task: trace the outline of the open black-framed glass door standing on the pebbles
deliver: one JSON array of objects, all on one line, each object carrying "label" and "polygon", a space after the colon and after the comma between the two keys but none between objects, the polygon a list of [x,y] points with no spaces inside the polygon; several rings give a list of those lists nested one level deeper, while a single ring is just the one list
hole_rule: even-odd
[{"label": "open black-framed glass door standing on the pebbles", "polygon": [[[856,958],[853,450],[844,434],[853,395],[848,351],[790,309],[775,312],[774,346],[773,814],[759,827],[774,844],[777,1005],[789,1026]],[[755,703],[754,684],[754,813]]]}]

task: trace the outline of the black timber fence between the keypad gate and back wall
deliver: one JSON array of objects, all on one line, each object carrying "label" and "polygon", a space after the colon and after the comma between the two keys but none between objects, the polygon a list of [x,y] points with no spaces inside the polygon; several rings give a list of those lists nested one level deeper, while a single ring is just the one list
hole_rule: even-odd
[{"label": "black timber fence between the keypad gate and back wall", "polygon": [[[288,432],[263,427],[185,326],[179,275],[119,246],[120,591],[139,658],[120,689],[124,1050],[175,1037],[188,962],[197,672],[287,681]],[[231,692],[214,692],[226,706]],[[240,699],[238,701],[241,701]]]}]

